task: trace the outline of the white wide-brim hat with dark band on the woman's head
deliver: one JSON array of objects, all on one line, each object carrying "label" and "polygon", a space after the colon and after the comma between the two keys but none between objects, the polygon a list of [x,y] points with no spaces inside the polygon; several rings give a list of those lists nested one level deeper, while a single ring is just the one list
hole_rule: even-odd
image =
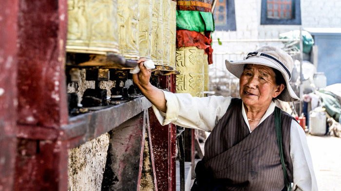
[{"label": "white wide-brim hat with dark band on the woman's head", "polygon": [[284,102],[295,102],[300,100],[289,84],[291,72],[294,67],[294,61],[289,54],[279,48],[265,46],[258,49],[256,52],[248,53],[245,60],[225,61],[227,70],[237,78],[240,78],[242,75],[244,65],[246,64],[258,64],[279,70],[284,77],[286,85],[282,93],[277,96],[277,99]]}]

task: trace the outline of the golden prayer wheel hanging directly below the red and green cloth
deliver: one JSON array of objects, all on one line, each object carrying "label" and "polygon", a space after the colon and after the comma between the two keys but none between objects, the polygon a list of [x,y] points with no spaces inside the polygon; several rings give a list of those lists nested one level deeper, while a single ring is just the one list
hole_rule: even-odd
[{"label": "golden prayer wheel hanging directly below the red and green cloth", "polygon": [[204,50],[196,47],[176,49],[176,92],[190,93],[203,97],[204,91]]}]

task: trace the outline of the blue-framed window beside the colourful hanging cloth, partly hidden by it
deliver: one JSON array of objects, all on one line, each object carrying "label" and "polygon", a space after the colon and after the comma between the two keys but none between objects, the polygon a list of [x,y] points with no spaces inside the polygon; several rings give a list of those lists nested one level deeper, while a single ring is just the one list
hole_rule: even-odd
[{"label": "blue-framed window beside the colourful hanging cloth, partly hidden by it", "polygon": [[234,0],[217,0],[213,17],[216,31],[235,31]]}]

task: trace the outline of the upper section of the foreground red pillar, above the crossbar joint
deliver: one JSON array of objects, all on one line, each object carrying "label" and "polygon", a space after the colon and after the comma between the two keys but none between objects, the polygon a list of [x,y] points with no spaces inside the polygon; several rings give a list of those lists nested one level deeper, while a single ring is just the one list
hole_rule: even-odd
[{"label": "upper section of the foreground red pillar, above the crossbar joint", "polygon": [[[63,59],[66,0],[19,1],[18,122],[58,128],[67,123]],[[44,10],[44,11],[42,11]],[[64,56],[65,57],[65,56]],[[48,111],[48,112],[47,112]]]}]

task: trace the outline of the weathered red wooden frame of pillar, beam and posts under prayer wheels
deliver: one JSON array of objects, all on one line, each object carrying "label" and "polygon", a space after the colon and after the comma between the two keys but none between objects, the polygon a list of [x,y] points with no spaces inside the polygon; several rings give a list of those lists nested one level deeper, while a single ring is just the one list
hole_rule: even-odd
[{"label": "weathered red wooden frame of pillar, beam and posts under prayer wheels", "polygon": [[[134,134],[140,144],[129,143],[137,147],[129,154],[135,153],[140,161],[137,190],[146,126],[155,189],[175,190],[175,126],[159,128],[151,110],[148,120],[151,104],[146,98],[69,120],[64,74],[67,0],[4,0],[0,9],[5,10],[0,13],[4,18],[0,19],[0,190],[66,191],[68,149],[115,128],[118,131],[126,123],[135,129],[143,127]],[[159,81],[174,91],[173,76]],[[143,120],[134,117],[137,115],[143,115]],[[161,156],[159,151],[166,153]]]}]

